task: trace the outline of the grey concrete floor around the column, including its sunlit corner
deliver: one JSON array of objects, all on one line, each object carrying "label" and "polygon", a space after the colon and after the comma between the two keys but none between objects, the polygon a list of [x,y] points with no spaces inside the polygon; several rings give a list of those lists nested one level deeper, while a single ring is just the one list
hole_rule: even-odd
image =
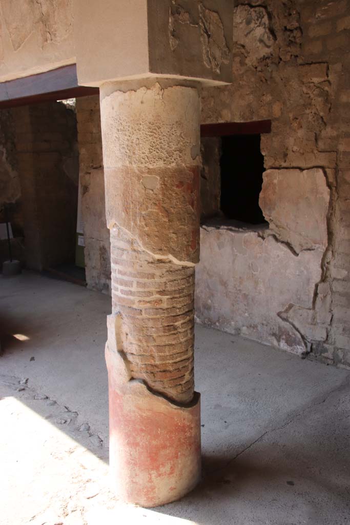
[{"label": "grey concrete floor around the column, including its sunlit corner", "polygon": [[116,501],[109,311],[68,282],[0,278],[2,525],[350,523],[350,373],[201,326],[203,481],[154,510]]}]

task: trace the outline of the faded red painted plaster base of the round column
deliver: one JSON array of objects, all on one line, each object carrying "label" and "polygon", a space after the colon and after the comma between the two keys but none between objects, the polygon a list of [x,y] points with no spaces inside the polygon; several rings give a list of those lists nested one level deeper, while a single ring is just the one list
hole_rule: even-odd
[{"label": "faded red painted plaster base of the round column", "polygon": [[200,479],[200,395],[195,393],[189,405],[177,405],[142,381],[120,383],[122,357],[108,345],[106,361],[116,496],[143,507],[183,497]]}]

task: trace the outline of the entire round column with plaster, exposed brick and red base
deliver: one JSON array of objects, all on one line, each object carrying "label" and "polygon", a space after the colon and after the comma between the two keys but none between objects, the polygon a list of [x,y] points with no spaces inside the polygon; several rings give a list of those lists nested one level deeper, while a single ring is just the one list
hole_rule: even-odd
[{"label": "entire round column with plaster, exposed brick and red base", "polygon": [[100,93],[112,266],[111,474],[124,501],[154,507],[200,477],[193,363],[200,107],[196,88],[149,86],[108,83]]}]

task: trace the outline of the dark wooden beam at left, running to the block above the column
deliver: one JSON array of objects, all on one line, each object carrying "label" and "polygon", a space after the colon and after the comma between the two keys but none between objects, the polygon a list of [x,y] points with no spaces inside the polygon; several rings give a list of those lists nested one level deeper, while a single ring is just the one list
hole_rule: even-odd
[{"label": "dark wooden beam at left, running to the block above the column", "polygon": [[98,88],[78,86],[77,66],[71,64],[38,75],[0,82],[0,109],[98,93]]}]

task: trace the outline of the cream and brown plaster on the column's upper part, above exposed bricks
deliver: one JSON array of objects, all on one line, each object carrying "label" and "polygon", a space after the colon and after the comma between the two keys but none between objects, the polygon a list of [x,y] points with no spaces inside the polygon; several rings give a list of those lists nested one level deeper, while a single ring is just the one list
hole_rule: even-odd
[{"label": "cream and brown plaster on the column's upper part, above exposed bricks", "polygon": [[[156,83],[150,89],[115,91],[102,99],[101,112],[107,225],[123,227],[150,253],[194,264],[199,166],[190,146],[199,139],[197,90],[162,90]],[[158,177],[153,191],[145,191],[145,176]]]}]

